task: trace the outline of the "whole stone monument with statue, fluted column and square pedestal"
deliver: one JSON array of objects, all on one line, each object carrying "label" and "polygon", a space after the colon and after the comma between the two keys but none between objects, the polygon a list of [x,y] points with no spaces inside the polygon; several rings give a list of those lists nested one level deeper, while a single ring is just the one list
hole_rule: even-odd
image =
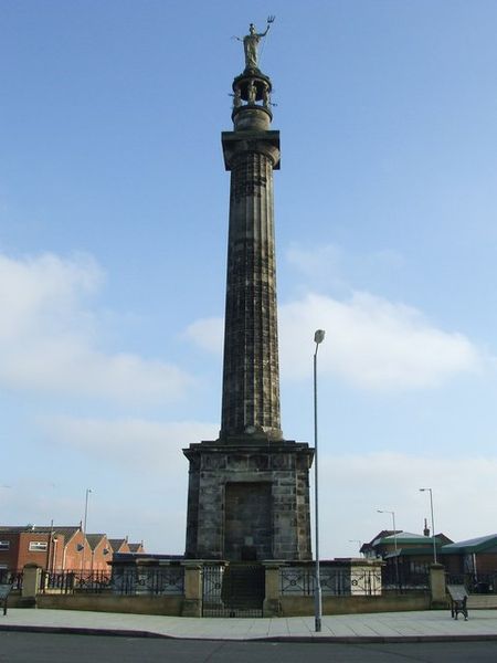
[{"label": "whole stone monument with statue, fluted column and square pedestal", "polygon": [[188,558],[310,559],[309,467],[314,450],[283,439],[279,417],[271,80],[258,69],[267,33],[251,24],[245,70],[233,81],[221,430],[190,444]]}]

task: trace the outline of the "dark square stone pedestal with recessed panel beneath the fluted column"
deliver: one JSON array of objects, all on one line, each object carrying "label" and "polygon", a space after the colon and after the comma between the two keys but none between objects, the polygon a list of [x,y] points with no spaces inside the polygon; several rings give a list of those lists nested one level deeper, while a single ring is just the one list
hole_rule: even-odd
[{"label": "dark square stone pedestal with recessed panel beneath the fluted column", "polygon": [[314,450],[240,436],[191,444],[189,559],[311,558],[309,469]]}]

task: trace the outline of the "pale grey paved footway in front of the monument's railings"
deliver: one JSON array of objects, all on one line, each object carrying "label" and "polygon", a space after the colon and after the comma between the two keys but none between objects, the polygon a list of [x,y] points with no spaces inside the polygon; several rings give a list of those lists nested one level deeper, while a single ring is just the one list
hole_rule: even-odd
[{"label": "pale grey paved footway in front of the monument's railings", "polygon": [[496,640],[497,610],[474,610],[468,621],[448,610],[340,614],[322,618],[320,633],[314,617],[222,619],[119,614],[76,610],[10,608],[0,614],[0,631],[99,633],[127,636],[205,640],[273,640],[328,642],[420,642]]}]

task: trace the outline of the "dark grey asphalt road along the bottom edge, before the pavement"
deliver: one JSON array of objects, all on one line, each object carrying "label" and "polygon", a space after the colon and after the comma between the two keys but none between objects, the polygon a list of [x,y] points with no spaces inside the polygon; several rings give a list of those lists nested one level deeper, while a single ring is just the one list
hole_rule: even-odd
[{"label": "dark grey asphalt road along the bottom edge, before the pavement", "polygon": [[497,642],[271,643],[0,633],[1,663],[495,663]]}]

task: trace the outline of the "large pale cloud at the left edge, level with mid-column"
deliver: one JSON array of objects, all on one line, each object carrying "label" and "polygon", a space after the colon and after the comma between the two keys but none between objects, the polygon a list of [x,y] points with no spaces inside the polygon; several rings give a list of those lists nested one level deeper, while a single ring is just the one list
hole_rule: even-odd
[{"label": "large pale cloud at the left edge, level with mid-column", "polygon": [[104,282],[88,256],[0,254],[0,385],[11,389],[160,402],[191,378],[162,360],[101,349],[101,320],[87,303]]}]

